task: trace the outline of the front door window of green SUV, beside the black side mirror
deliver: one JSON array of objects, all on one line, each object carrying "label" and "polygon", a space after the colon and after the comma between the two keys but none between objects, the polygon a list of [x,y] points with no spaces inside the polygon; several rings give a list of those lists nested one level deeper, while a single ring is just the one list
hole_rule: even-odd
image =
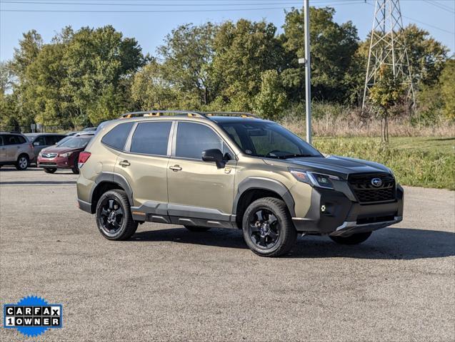
[{"label": "front door window of green SUV, beside the black side mirror", "polygon": [[[199,123],[180,122],[177,128],[176,157],[201,159],[202,151],[217,148],[229,152],[224,141],[211,128]],[[231,153],[231,152],[230,152]]]}]

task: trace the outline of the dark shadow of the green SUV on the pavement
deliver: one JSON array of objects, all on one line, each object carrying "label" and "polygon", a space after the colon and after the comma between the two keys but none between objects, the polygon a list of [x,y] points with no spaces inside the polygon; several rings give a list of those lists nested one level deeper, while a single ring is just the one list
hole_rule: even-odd
[{"label": "dark shadow of the green SUV on the pavement", "polygon": [[[214,247],[246,249],[243,234],[234,229],[189,232],[185,228],[136,232],[130,242],[171,241]],[[363,244],[345,246],[329,237],[299,237],[285,258],[355,258],[412,260],[455,256],[455,233],[436,230],[386,228],[374,232]]]}]

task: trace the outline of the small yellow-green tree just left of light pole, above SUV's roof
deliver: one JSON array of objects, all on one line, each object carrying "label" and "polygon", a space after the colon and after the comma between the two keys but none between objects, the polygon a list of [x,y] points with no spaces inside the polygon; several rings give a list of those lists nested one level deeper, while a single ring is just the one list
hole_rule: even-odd
[{"label": "small yellow-green tree just left of light pole, above SUV's roof", "polygon": [[277,120],[286,107],[286,93],[276,70],[261,73],[261,90],[254,97],[254,110],[263,118]]}]

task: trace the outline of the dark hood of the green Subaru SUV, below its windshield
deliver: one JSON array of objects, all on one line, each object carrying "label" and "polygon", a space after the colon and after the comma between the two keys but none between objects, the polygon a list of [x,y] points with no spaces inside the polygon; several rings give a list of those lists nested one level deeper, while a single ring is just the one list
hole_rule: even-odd
[{"label": "dark hood of the green Subaru SUV, below its windshield", "polygon": [[[388,167],[385,167],[378,162],[339,157],[337,155],[329,155],[327,157],[289,158],[285,161],[289,167],[301,167],[302,169],[309,171],[325,172],[329,175],[339,176],[344,180],[347,180],[348,176],[354,173],[391,173]],[[271,160],[264,159],[264,162],[270,164]]]}]

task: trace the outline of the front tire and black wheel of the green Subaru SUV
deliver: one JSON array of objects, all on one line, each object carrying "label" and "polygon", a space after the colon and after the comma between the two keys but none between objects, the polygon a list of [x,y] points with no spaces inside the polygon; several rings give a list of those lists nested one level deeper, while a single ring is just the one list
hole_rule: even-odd
[{"label": "front tire and black wheel of the green Subaru SUV", "polygon": [[286,204],[274,197],[257,199],[242,219],[248,247],[261,257],[279,257],[294,246],[297,232]]}]

